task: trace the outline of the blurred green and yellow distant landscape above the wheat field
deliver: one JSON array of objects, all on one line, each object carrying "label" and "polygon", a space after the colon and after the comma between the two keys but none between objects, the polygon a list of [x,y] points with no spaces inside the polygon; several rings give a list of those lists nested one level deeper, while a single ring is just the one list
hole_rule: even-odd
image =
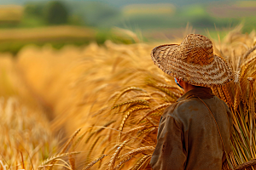
[{"label": "blurred green and yellow distant landscape above the wheat field", "polygon": [[137,33],[143,42],[155,42],[182,37],[187,24],[214,38],[239,24],[243,33],[256,26],[254,1],[3,0],[0,5],[0,51],[13,54],[31,43],[61,48],[107,39],[134,42],[116,27]]}]

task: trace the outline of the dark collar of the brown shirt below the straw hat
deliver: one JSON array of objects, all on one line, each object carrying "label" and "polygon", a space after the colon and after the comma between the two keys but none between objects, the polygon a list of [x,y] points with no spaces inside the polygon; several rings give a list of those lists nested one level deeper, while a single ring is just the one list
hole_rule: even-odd
[{"label": "dark collar of the brown shirt below the straw hat", "polygon": [[192,90],[189,90],[186,94],[183,94],[177,101],[181,101],[183,99],[190,99],[190,98],[201,98],[201,99],[210,99],[214,96],[212,94],[212,89],[211,88],[204,88],[204,87],[199,87],[199,88],[194,88]]}]

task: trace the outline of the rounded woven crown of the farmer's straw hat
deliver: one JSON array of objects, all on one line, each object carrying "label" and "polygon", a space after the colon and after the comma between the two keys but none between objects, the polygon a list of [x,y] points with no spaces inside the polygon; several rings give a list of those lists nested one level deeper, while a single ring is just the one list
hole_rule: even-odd
[{"label": "rounded woven crown of the farmer's straw hat", "polygon": [[180,44],[180,57],[186,63],[209,65],[213,61],[212,41],[199,34],[189,34]]}]

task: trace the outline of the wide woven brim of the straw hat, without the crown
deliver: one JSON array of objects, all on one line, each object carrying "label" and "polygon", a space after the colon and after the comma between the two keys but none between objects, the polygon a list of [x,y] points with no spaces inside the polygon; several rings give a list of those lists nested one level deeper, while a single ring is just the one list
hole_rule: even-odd
[{"label": "wide woven brim of the straw hat, without the crown", "polygon": [[195,86],[212,88],[233,79],[230,66],[218,55],[213,54],[213,60],[208,65],[183,62],[178,44],[160,45],[152,50],[151,57],[166,74]]}]

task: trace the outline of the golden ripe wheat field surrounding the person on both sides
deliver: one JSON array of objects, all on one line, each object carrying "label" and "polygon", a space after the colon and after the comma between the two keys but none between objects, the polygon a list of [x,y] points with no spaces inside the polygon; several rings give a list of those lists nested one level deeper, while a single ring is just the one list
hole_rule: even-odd
[{"label": "golden ripe wheat field surrounding the person on both sides", "polygon": [[[212,42],[235,72],[234,82],[212,91],[234,115],[236,167],[255,159],[256,33],[238,27]],[[1,54],[0,169],[150,169],[161,113],[183,94],[150,58],[159,44]]]}]

